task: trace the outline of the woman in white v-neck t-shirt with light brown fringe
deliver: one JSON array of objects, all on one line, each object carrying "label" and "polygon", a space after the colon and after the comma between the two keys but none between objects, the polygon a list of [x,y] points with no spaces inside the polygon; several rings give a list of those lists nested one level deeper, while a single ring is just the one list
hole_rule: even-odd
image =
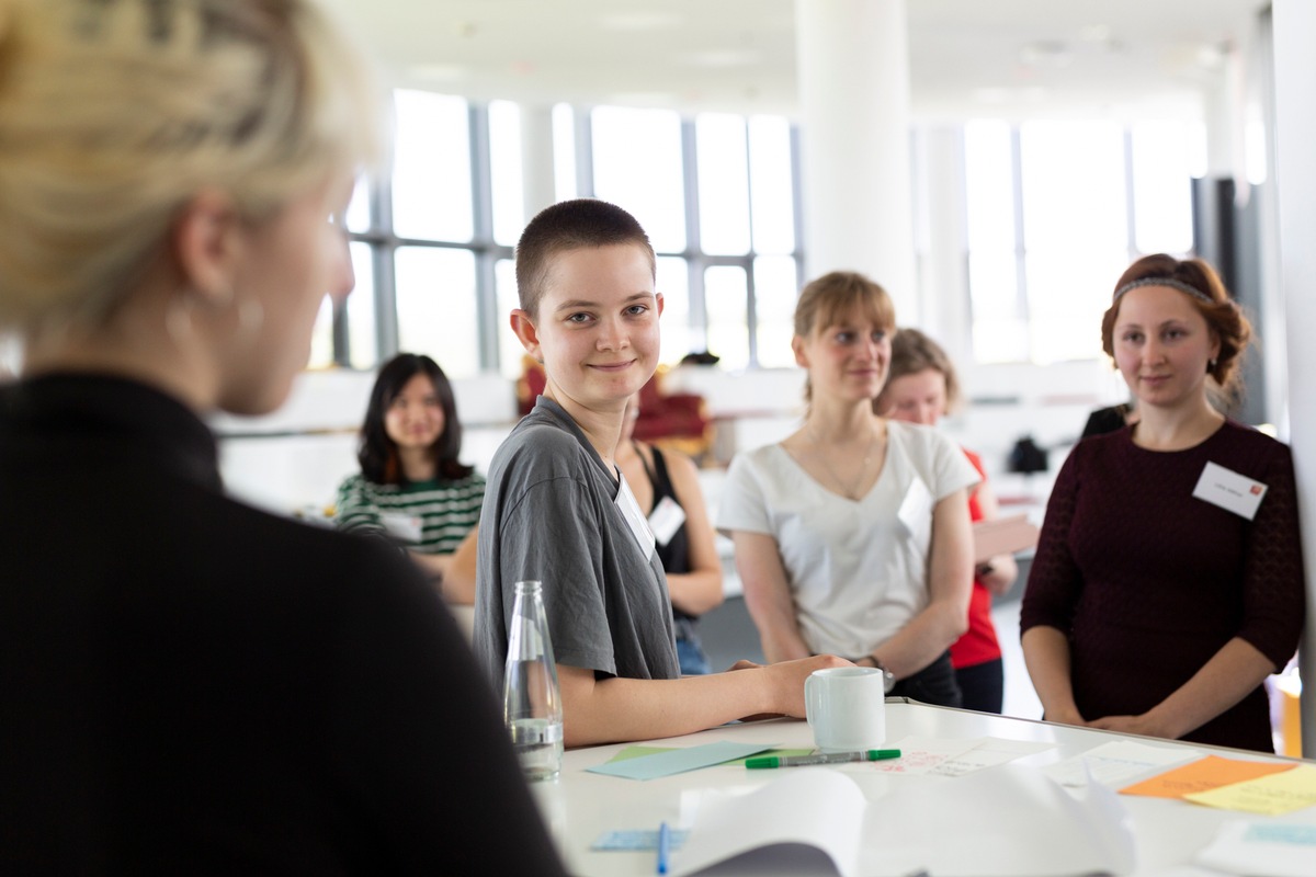
[{"label": "woman in white v-neck t-shirt with light brown fringe", "polygon": [[958,706],[948,650],[969,623],[978,473],[946,437],[873,413],[895,325],[863,275],[804,287],[791,347],[808,414],[737,455],[717,526],[769,661],[842,655],[887,671],[892,694]]}]

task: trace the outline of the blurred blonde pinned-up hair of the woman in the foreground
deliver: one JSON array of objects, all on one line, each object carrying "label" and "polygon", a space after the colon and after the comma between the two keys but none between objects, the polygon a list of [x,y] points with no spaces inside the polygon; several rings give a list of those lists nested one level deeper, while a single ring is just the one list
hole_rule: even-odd
[{"label": "blurred blonde pinned-up hair of the woman in the foreground", "polygon": [[0,0],[0,326],[103,320],[199,191],[266,220],[378,107],[311,0]]}]

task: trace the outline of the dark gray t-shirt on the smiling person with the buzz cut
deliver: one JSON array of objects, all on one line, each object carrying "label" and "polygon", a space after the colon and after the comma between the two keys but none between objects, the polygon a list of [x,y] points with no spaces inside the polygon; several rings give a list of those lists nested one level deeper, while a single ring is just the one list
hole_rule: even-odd
[{"label": "dark gray t-shirt on the smiling person with the buzz cut", "polygon": [[553,653],[596,676],[676,678],[667,579],[616,505],[619,483],[571,415],[540,397],[490,465],[480,511],[475,655],[503,685],[516,582],[544,582]]}]

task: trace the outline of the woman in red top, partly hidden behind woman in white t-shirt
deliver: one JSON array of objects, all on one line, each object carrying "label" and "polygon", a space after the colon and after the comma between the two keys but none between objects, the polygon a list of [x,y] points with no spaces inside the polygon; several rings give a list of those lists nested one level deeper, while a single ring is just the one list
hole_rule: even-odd
[{"label": "woman in red top, partly hidden behind woman in white t-shirt", "polygon": [[[941,415],[959,401],[955,368],[937,342],[917,329],[901,329],[891,342],[891,377],[874,404],[886,417],[909,423],[936,426]],[[982,481],[969,494],[969,517],[986,521],[998,514],[996,494],[987,484],[982,459],[970,450],[965,456],[978,469]],[[963,706],[983,713],[1000,713],[1004,672],[996,628],[991,623],[991,598],[1015,584],[1019,567],[1009,555],[992,557],[974,569],[974,590],[969,602],[969,630],[950,647],[955,681],[963,693]]]}]

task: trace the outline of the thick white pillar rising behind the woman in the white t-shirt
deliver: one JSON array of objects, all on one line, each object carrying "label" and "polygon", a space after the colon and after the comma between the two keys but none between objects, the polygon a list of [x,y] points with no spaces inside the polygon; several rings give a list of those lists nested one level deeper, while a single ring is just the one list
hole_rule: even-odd
[{"label": "thick white pillar rising behind the woman in the white t-shirt", "polygon": [[904,0],[796,0],[805,276],[869,275],[919,322]]}]

